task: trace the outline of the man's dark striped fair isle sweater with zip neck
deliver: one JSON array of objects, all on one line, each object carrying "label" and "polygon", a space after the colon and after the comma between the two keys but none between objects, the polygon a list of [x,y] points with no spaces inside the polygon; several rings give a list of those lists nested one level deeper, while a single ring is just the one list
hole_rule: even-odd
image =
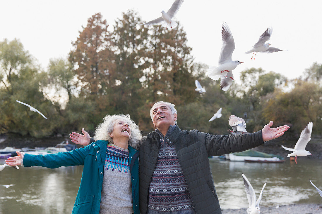
[{"label": "man's dark striped fair isle sweater with zip neck", "polygon": [[[170,135],[174,129],[175,126],[170,126],[166,136]],[[175,146],[165,143],[161,132],[157,129],[156,132],[160,135],[161,145],[149,187],[147,213],[194,214],[194,204],[175,152]]]}]

